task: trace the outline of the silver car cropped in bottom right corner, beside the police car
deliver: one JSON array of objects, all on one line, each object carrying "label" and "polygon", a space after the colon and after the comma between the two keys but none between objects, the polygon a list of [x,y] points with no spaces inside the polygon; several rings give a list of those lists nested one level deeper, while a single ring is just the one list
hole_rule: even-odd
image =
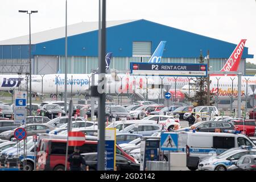
[{"label": "silver car cropped in bottom right corner, beside the police car", "polygon": [[244,155],[228,171],[256,171],[256,155]]}]

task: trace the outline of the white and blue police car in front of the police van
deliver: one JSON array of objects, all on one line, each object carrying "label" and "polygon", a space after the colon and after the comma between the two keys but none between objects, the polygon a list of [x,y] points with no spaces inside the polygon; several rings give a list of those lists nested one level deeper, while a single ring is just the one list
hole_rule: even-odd
[{"label": "white and blue police car in front of the police van", "polygon": [[230,148],[218,156],[210,156],[208,159],[199,162],[199,170],[226,171],[226,169],[237,162],[243,155],[256,155],[256,147],[241,146]]}]

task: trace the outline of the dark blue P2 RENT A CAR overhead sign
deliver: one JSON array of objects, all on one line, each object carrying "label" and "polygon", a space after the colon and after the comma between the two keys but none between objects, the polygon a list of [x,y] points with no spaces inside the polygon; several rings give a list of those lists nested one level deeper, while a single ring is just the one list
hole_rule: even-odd
[{"label": "dark blue P2 RENT A CAR overhead sign", "polygon": [[133,75],[207,76],[207,64],[130,63]]}]

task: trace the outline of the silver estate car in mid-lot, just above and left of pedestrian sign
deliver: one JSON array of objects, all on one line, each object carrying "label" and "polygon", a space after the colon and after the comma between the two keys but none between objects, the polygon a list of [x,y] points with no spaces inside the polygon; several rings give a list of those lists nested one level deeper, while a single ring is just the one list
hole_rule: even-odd
[{"label": "silver estate car in mid-lot, just above and left of pedestrian sign", "polygon": [[119,133],[134,133],[141,134],[143,136],[151,136],[152,134],[161,131],[162,126],[157,124],[133,124],[125,127],[125,129],[119,131]]}]

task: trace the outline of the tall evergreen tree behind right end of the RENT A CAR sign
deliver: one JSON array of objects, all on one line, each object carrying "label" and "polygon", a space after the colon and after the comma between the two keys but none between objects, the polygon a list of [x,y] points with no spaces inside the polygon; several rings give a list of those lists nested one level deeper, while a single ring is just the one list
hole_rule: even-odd
[{"label": "tall evergreen tree behind right end of the RENT A CAR sign", "polygon": [[[199,63],[204,63],[204,57],[202,50],[200,51]],[[211,82],[211,81],[210,81]],[[193,97],[188,97],[185,94],[187,101],[193,103],[194,106],[206,106],[207,105],[207,77],[196,77],[193,78],[193,85],[195,86],[195,95]],[[214,105],[214,94],[210,93],[210,105]]]}]

